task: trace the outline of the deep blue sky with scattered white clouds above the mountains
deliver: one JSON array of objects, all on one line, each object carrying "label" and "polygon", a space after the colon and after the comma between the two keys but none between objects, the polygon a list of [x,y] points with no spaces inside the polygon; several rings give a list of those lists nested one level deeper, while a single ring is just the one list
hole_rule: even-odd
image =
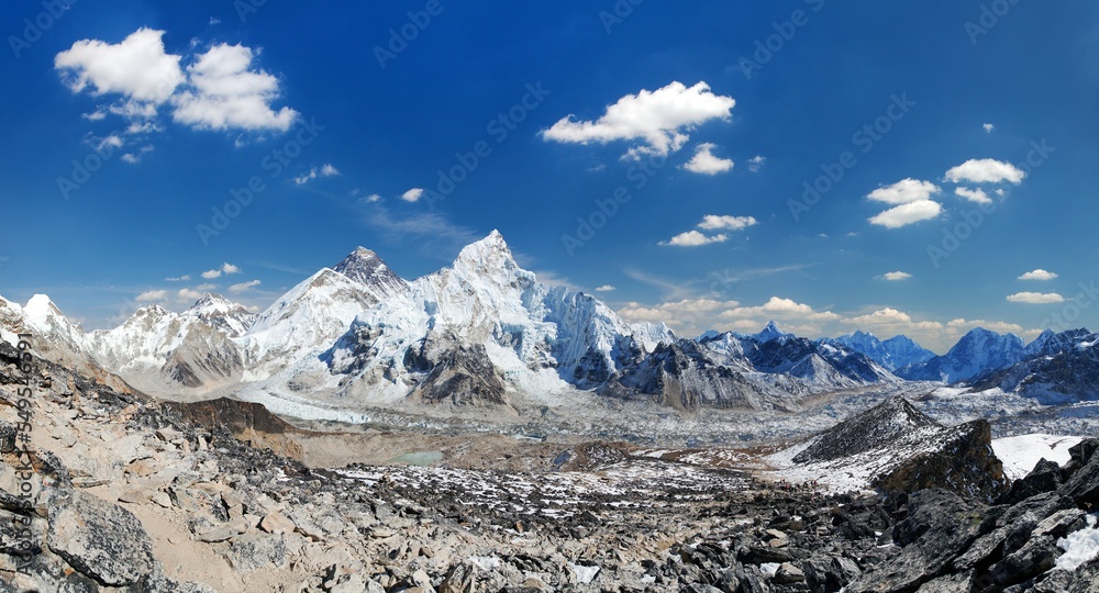
[{"label": "deep blue sky with scattered white clouds above the mountains", "polygon": [[0,294],[89,328],[493,228],[687,335],[1099,325],[1094,2],[58,1],[0,8]]}]

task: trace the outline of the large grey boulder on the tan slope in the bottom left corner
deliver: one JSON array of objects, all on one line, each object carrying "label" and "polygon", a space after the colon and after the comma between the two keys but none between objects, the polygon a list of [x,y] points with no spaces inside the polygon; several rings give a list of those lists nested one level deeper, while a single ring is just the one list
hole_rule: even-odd
[{"label": "large grey boulder on the tan slope in the bottom left corner", "polygon": [[153,572],[153,541],[132,513],[80,491],[51,500],[49,548],[104,585],[132,585]]}]

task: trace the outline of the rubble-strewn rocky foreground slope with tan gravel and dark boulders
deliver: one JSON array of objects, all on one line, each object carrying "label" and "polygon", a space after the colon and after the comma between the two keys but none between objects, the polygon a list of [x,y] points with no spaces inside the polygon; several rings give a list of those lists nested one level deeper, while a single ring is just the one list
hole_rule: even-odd
[{"label": "rubble-strewn rocky foreground slope with tan gravel and dark boulders", "polygon": [[318,470],[237,438],[281,429],[259,411],[18,361],[0,344],[0,591],[1099,590],[1099,559],[1068,544],[1095,529],[1095,439],[991,503],[601,444],[563,446],[556,471]]}]

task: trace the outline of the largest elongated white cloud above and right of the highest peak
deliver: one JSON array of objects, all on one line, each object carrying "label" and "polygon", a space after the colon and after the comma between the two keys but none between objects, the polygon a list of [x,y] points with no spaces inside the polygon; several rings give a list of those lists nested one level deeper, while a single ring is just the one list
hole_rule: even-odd
[{"label": "largest elongated white cloud above and right of the highest peak", "polygon": [[709,85],[687,87],[675,81],[655,91],[642,90],[626,94],[596,121],[576,121],[567,115],[542,131],[542,137],[570,144],[591,142],[639,141],[628,157],[667,155],[687,143],[688,131],[711,121],[730,119],[736,101],[732,97],[713,94]]}]

